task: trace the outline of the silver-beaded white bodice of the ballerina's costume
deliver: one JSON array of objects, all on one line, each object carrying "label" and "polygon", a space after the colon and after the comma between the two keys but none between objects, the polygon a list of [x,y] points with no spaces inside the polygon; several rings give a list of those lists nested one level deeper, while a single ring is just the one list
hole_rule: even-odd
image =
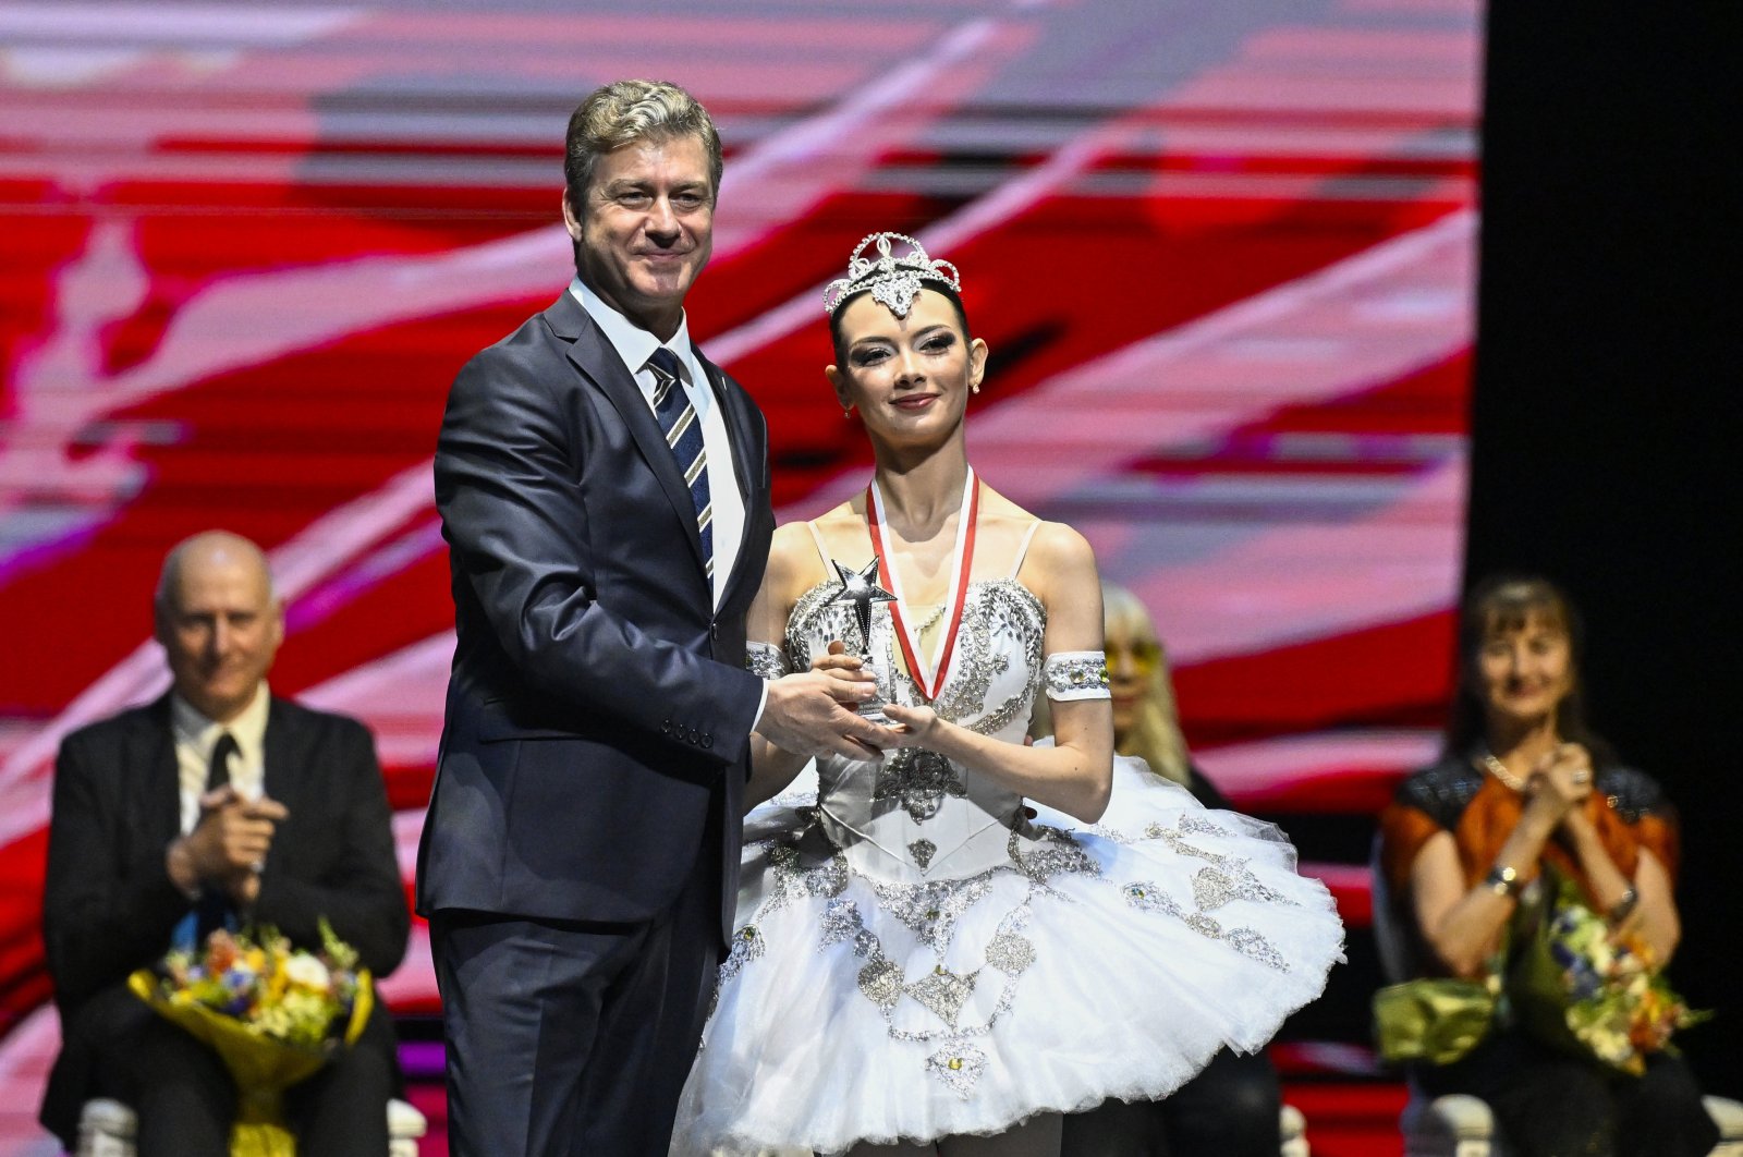
[{"label": "silver-beaded white bodice of the ballerina's costume", "polygon": [[[804,671],[831,639],[861,653],[852,608],[831,603],[838,585],[823,582],[800,596],[788,619],[786,660]],[[955,659],[931,706],[960,727],[1020,741],[1042,683],[1046,608],[1016,578],[969,582]],[[882,673],[878,694],[898,704],[924,702],[901,669],[887,605],[873,606],[870,653]],[[817,760],[819,819],[831,842],[865,875],[917,882],[980,871],[1007,859],[1023,800],[985,777],[922,749],[889,753],[882,763],[840,756]]]}]

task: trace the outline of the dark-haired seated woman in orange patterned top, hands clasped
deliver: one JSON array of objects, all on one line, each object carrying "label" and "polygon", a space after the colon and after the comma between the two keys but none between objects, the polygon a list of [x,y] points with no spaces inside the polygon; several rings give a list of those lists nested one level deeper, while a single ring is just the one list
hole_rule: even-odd
[{"label": "dark-haired seated woman in orange patterned top, hands clasped", "polygon": [[[1546,868],[1658,964],[1677,948],[1675,812],[1586,727],[1579,646],[1574,608],[1543,578],[1490,580],[1466,603],[1445,754],[1380,817],[1382,871],[1421,974],[1492,969]],[[1663,1052],[1630,1077],[1497,1025],[1415,1075],[1429,1094],[1489,1101],[1520,1157],[1698,1157],[1717,1141],[1687,1066]]]}]

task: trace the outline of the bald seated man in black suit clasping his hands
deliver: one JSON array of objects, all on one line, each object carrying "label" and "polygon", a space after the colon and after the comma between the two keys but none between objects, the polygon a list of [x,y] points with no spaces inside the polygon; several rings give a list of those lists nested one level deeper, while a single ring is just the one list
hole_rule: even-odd
[{"label": "bald seated man in black suit clasping his hands", "polygon": [[[56,763],[42,924],[63,1045],[42,1122],[71,1147],[80,1106],[112,1096],[139,1115],[139,1157],[218,1157],[237,1087],[127,976],[220,924],[319,948],[326,917],[380,978],[411,918],[370,734],[267,690],[284,606],[260,549],[221,531],[183,542],[155,619],[173,690],[73,732]],[[352,1049],[288,1093],[302,1152],[382,1157],[397,1082],[378,1005]]]}]

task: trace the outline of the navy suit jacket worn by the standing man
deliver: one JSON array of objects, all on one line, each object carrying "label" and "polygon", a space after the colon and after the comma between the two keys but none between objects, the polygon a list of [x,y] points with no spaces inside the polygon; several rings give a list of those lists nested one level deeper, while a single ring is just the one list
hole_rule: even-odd
[{"label": "navy suit jacket worn by the standing man", "polygon": [[659,422],[572,294],[455,378],[436,507],[458,646],[418,849],[420,913],[648,920],[697,869],[704,824],[723,822],[730,934],[762,695],[744,669],[744,615],[774,514],[762,413],[699,361],[744,497],[718,610]]}]

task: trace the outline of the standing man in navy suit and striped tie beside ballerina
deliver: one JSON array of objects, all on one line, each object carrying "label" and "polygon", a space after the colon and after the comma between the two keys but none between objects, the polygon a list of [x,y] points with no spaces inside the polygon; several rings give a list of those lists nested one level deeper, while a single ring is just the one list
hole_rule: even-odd
[{"label": "standing man in navy suit and striped tie beside ballerina", "polygon": [[720,171],[683,89],[593,92],[565,159],[577,277],[448,396],[458,650],[418,910],[455,1154],[664,1155],[730,934],[751,730],[858,758],[889,739],[842,706],[863,685],[744,669],[767,430],[683,312]]}]

